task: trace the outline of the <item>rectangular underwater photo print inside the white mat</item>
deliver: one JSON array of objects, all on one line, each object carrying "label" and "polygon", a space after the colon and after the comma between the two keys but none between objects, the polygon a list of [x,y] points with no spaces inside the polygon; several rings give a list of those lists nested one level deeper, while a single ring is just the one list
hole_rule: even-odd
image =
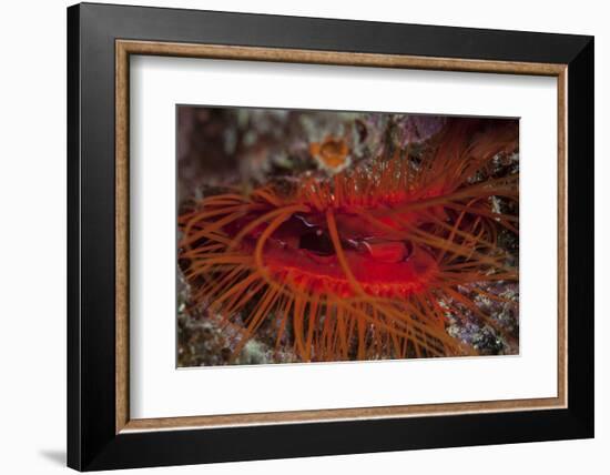
[{"label": "rectangular underwater photo print inside the white mat", "polygon": [[519,354],[519,120],[176,105],[179,367]]}]

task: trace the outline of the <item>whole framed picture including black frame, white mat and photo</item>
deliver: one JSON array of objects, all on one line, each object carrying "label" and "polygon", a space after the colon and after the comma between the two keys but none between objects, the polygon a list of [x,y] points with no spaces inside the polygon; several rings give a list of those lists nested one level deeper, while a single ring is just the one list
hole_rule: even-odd
[{"label": "whole framed picture including black frame, white mat and photo", "polygon": [[68,464],[593,436],[593,38],[68,9]]}]

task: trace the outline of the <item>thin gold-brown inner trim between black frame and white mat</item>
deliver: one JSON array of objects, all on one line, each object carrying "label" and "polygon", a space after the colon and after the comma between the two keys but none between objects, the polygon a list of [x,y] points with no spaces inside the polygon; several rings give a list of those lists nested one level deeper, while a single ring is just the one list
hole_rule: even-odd
[{"label": "thin gold-brown inner trim between black frame and white mat", "polygon": [[[190,417],[130,417],[129,408],[129,94],[130,55],[187,57],[439,71],[548,75],[557,78],[558,104],[558,387],[557,397]],[[277,48],[115,41],[115,432],[214,428],[244,425],[397,418],[567,407],[567,81],[566,64],[465,60]]]}]

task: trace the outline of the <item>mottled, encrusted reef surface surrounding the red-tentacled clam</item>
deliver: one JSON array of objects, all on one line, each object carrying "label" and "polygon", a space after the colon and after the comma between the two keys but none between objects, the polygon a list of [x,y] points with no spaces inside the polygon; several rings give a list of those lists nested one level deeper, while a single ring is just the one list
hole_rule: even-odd
[{"label": "mottled, encrusted reef surface surrounding the red-tentacled clam", "polygon": [[[392,156],[397,150],[408,153],[417,163],[423,160],[423,150],[434,143],[447,123],[446,118],[435,115],[203,107],[180,107],[177,120],[179,213],[230,185],[248,193],[256,184],[270,180],[329,179],[357,163]],[[474,181],[518,173],[518,150],[498,154],[486,171],[487,176]],[[515,202],[499,196],[489,196],[489,200],[494,212],[518,215]],[[507,264],[516,269],[518,243],[516,233],[506,229],[499,231],[497,245],[507,253]],[[278,329],[273,317],[266,319],[234,355],[241,338],[241,319],[245,315],[237,314],[226,322],[205,302],[194,302],[193,289],[183,271],[179,265],[179,366],[302,361],[294,352],[294,329],[289,320]],[[457,290],[490,315],[492,322],[482,321],[460,302],[439,302],[441,307],[448,309],[448,304],[460,307],[462,314],[456,319],[447,310],[447,334],[480,355],[518,354],[518,282],[500,280],[472,285],[482,292],[474,292],[470,285]],[[241,312],[247,312],[247,307]],[[504,330],[501,334],[495,329],[496,324]],[[375,352],[366,355],[368,360],[392,357],[393,354]]]}]

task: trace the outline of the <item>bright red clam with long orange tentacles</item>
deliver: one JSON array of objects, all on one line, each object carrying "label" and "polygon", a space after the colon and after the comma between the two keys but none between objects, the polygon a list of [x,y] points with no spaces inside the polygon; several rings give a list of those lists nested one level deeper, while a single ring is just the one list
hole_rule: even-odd
[{"label": "bright red clam with long orange tentacles", "polygon": [[191,297],[240,329],[234,356],[270,320],[305,362],[477,354],[451,320],[510,338],[472,295],[517,305],[485,290],[518,280],[498,244],[518,216],[494,206],[518,202],[518,173],[489,173],[517,143],[511,124],[449,121],[421,158],[205,196],[179,218]]}]

